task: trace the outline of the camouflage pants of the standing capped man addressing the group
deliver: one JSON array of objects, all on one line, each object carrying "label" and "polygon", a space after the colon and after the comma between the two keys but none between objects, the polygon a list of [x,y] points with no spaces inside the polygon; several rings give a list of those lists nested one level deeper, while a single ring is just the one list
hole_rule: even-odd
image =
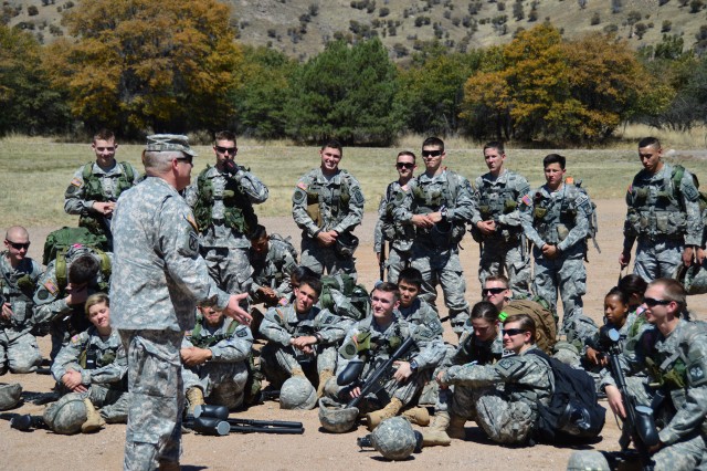
[{"label": "camouflage pants of the standing capped man addressing the group", "polygon": [[125,470],[154,470],[178,462],[184,409],[181,378],[183,332],[119,331],[128,357],[128,426]]}]

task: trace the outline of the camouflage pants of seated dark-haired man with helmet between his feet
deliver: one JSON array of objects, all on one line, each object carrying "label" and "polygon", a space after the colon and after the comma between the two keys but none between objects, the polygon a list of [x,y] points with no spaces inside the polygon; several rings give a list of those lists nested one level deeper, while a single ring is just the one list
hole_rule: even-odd
[{"label": "camouflage pants of seated dark-haired man with helmet between his feet", "polygon": [[315,353],[308,358],[309,364],[300,364],[295,357],[294,348],[268,342],[261,350],[261,370],[273,387],[279,387],[292,377],[294,368],[302,368],[309,381],[316,387],[319,375],[325,369],[336,369],[336,346],[314,345]]}]

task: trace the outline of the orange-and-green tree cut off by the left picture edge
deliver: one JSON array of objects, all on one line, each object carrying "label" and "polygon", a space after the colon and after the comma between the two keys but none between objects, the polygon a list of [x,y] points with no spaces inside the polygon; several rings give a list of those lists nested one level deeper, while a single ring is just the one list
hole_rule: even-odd
[{"label": "orange-and-green tree cut off by the left picture edge", "polygon": [[41,56],[34,35],[0,24],[0,135],[46,135],[71,128],[64,97],[36,66]]}]

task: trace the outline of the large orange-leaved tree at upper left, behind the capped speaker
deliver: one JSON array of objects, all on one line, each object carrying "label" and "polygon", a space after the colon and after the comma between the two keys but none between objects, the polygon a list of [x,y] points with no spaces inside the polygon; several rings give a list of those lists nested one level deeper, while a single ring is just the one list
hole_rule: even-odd
[{"label": "large orange-leaved tree at upper left, behind the capped speaker", "polygon": [[217,0],[94,0],[64,14],[45,69],[88,127],[127,135],[221,127],[241,61]]}]

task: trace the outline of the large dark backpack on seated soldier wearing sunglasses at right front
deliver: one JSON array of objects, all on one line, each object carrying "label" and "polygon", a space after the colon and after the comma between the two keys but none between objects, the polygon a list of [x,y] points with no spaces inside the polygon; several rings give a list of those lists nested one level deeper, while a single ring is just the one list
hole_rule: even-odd
[{"label": "large dark backpack on seated soldier wearing sunglasses at right front", "polygon": [[595,441],[604,428],[606,409],[599,405],[592,377],[537,348],[528,353],[542,358],[555,377],[550,404],[538,402],[534,437],[546,443]]}]

